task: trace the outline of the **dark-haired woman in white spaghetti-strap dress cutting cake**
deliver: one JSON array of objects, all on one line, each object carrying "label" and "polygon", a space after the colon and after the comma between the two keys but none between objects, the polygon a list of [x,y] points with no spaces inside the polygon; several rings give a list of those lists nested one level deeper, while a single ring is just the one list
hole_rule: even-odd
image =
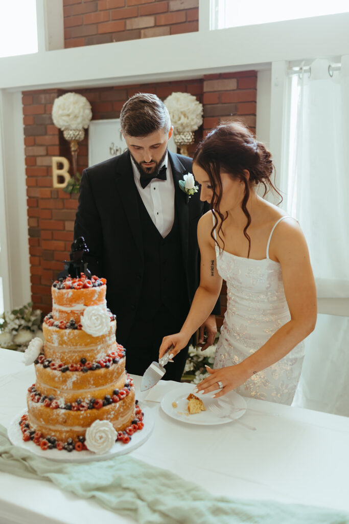
[{"label": "dark-haired woman in white spaghetti-strap dress cutting cake", "polygon": [[175,356],[207,318],[227,281],[227,312],[213,369],[197,385],[220,397],[239,394],[290,405],[314,329],[316,287],[305,237],[295,219],[256,192],[274,189],[271,154],[241,123],[214,129],[197,148],[193,173],[202,201],[200,285],[179,333],[164,337],[160,357]]}]

